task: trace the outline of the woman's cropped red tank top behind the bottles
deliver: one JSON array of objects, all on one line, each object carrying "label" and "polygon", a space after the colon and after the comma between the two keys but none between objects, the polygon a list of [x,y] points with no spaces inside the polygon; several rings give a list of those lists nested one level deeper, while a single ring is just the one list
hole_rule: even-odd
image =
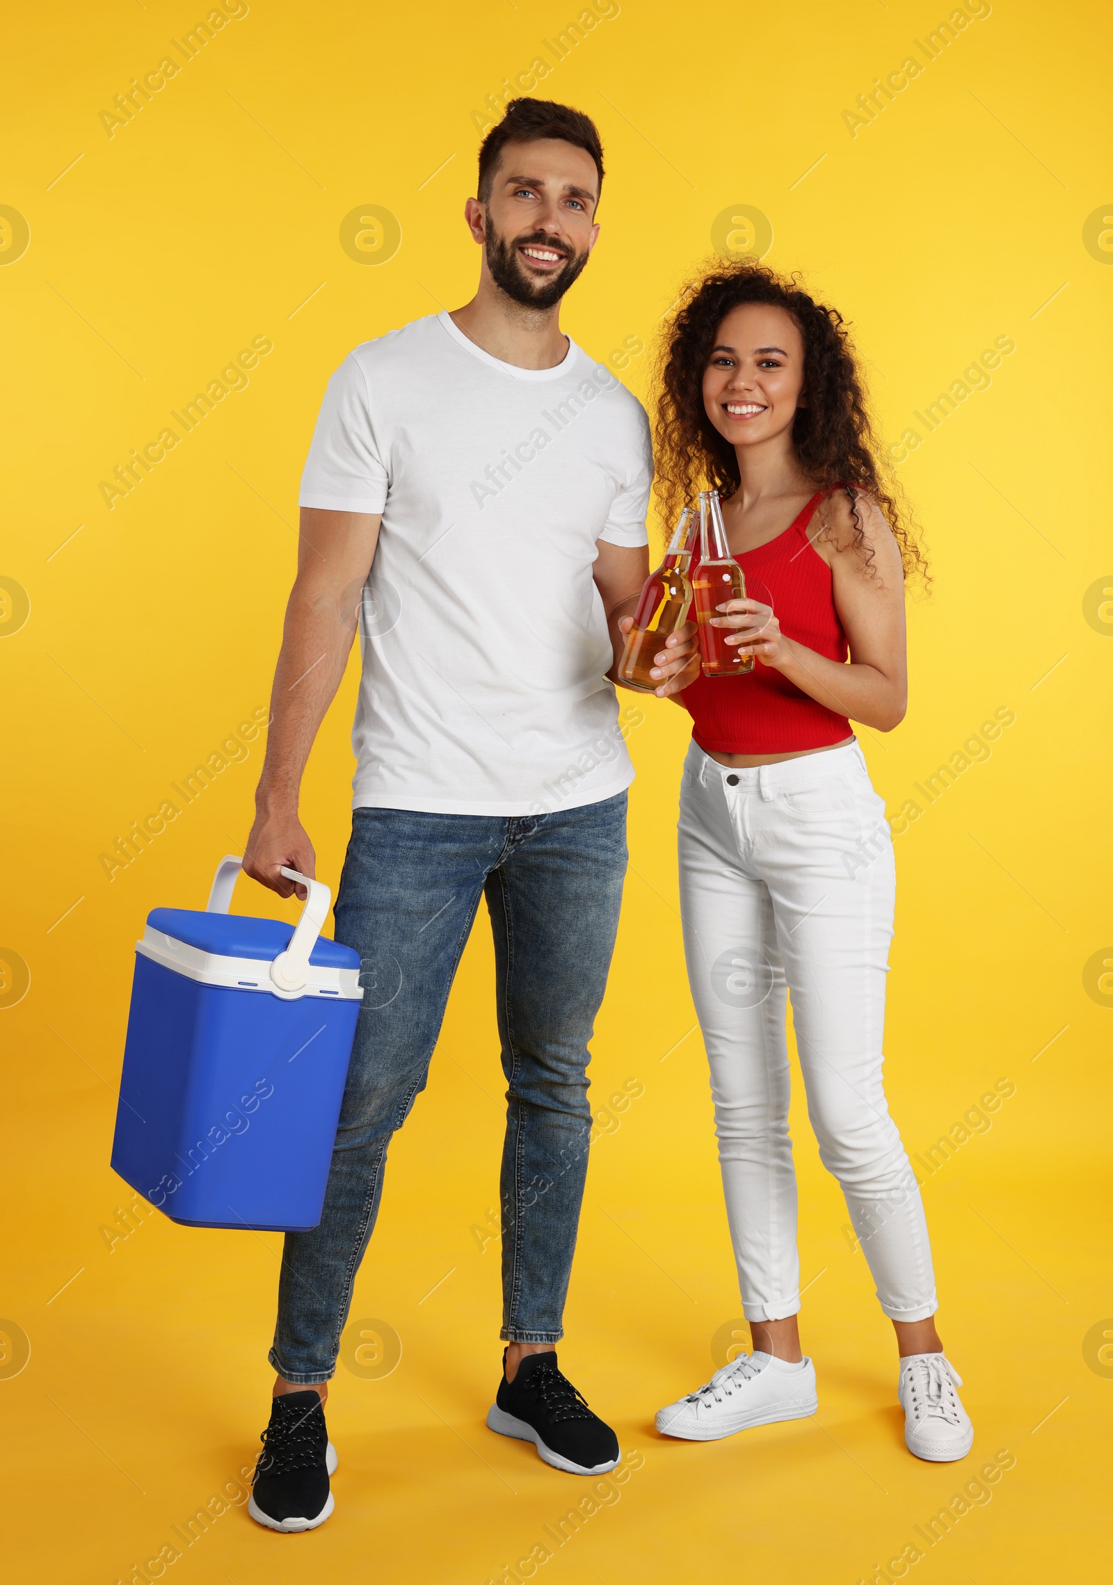
[{"label": "woman's cropped red tank top behind the bottles", "polygon": [[[834,605],[831,567],[807,537],[823,496],[820,490],[783,534],[744,550],[737,561],[747,596],[772,605],[782,632],[817,655],[845,661],[847,634]],[[680,701],[693,720],[691,735],[706,753],[786,754],[850,737],[845,715],[828,710],[759,659],[744,677],[699,675]]]}]

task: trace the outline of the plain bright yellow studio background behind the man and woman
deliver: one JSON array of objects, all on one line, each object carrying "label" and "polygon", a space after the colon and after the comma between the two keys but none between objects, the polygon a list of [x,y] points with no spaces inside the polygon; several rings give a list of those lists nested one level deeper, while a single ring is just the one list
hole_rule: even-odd
[{"label": "plain bright yellow studio background behind the man and woman", "polygon": [[[1084,601],[1113,561],[1102,450],[1113,254],[1088,250],[1083,227],[1100,206],[1113,212],[1108,13],[994,0],[851,136],[843,113],[947,19],[945,3],[615,0],[609,11],[539,87],[596,117],[606,144],[602,238],[564,312],[591,353],[652,342],[715,219],[739,204],[769,217],[769,262],[802,269],[853,323],[886,441],[994,338],[1016,342],[991,388],[901,469],[935,588],[910,607],[908,718],[886,739],[862,734],[893,815],[996,708],[1016,713],[993,758],[897,838],[886,1041],[913,1154],[997,1079],[1016,1089],[924,1187],[940,1330],[977,1426],[966,1463],[921,1465],[904,1449],[891,1328],[799,1092],[801,1257],[804,1281],[815,1278],[802,1327],[820,1414],[706,1447],[655,1436],[652,1411],[707,1377],[712,1338],[740,1306],[680,953],[672,831],[687,721],[645,702],[629,735],[633,862],[591,1070],[596,1105],[626,1079],[644,1094],[620,1127],[604,1119],[593,1152],[561,1349],[644,1465],[537,1577],[853,1585],[1004,1449],[1016,1461],[993,1501],[926,1549],[912,1577],[1096,1574],[1108,1556],[1113,1382],[1092,1328],[1113,1316],[1102,1201],[1113,1011],[1096,1000],[1100,957],[1086,983],[1084,970],[1113,940],[1108,762],[1096,753],[1113,623],[1086,620],[1100,593]],[[109,1251],[101,1228],[122,1233],[132,1198],[108,1154],[133,941],[151,907],[205,905],[217,859],[249,829],[260,743],[114,880],[98,856],[266,702],[325,380],[357,342],[471,295],[477,254],[461,209],[474,113],[577,10],[252,0],[109,138],[100,113],[203,16],[176,0],[111,0],[22,8],[8,24],[0,203],[30,225],[22,258],[0,268],[0,577],[30,598],[30,618],[0,642],[0,940],[32,976],[0,1011],[0,1403],[21,1579],[130,1577],[254,1460],[277,1235],[190,1232],[151,1214]],[[339,246],[341,220],[366,204],[401,225],[377,266]],[[109,510],[100,480],[258,334],[274,350],[249,387]],[[622,371],[639,395],[648,363],[642,353]],[[354,664],[303,802],[333,886],[355,675]],[[241,883],[235,907],[262,913],[268,899]],[[583,1495],[484,1428],[499,1303],[498,1243],[480,1243],[499,1094],[480,918],[357,1284],[354,1319],[393,1328],[403,1357],[384,1379],[339,1366],[336,1517],[287,1539],[233,1507],[182,1547],[176,1585],[482,1585]],[[30,1339],[19,1374],[13,1328]]]}]

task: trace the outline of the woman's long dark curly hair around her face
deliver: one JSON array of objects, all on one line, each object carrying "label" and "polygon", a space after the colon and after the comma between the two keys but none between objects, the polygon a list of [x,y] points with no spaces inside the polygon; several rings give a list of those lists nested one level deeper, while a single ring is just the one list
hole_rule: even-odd
[{"label": "woman's long dark curly hair around her face", "polygon": [[[862,547],[856,498],[870,495],[901,547],[905,579],[924,579],[928,563],[918,534],[882,449],[866,404],[864,382],[842,314],[817,303],[799,285],[799,273],[778,276],[744,258],[701,271],[680,293],[666,325],[656,368],[653,452],[656,495],[666,521],[699,488],[729,496],[739,488],[734,447],[704,411],[702,380],[718,327],[744,303],[767,303],[791,314],[804,338],[807,407],[793,420],[796,458],[817,490],[843,490],[855,525],[853,544]],[[866,547],[866,561],[872,550]]]}]

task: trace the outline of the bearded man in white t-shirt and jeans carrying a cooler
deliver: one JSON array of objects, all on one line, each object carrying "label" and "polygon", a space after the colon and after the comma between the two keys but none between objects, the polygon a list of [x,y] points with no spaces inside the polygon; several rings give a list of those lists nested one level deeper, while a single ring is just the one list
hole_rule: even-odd
[{"label": "bearded man in white t-shirt and jeans carrying a cooler", "polygon": [[[277,1381],[249,1507],[271,1530],[311,1530],[333,1511],[327,1382],[387,1146],[425,1087],[480,894],[507,1079],[507,1347],[487,1423],[558,1469],[599,1474],[620,1457],[555,1352],[591,1129],[587,1040],[626,867],[633,769],[607,678],[647,575],[652,472],[639,403],[560,330],[598,238],[601,182],[587,116],[512,101],[465,209],[484,250],[476,296],[349,355],[301,480],[244,869],[282,896],[282,865],[314,873],[298,786],[358,610],[336,938],[360,951],[365,997],[322,1220],[285,1238]],[[691,680],[690,634],[661,653],[666,693]]]}]

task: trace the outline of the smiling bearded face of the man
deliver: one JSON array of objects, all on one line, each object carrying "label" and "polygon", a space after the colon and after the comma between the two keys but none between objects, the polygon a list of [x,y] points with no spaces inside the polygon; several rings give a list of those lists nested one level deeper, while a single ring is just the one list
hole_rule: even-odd
[{"label": "smiling bearded face of the man", "polygon": [[599,173],[585,149],[563,138],[507,143],[487,203],[468,201],[495,285],[523,307],[560,303],[599,235],[598,198]]}]

